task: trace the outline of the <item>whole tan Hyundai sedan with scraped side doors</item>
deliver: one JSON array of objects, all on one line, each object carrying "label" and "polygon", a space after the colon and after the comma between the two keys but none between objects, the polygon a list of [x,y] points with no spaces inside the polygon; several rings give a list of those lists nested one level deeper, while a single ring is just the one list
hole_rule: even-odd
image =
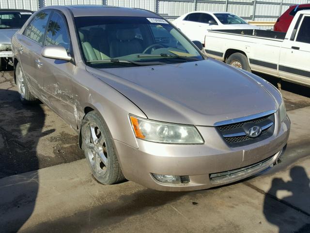
[{"label": "whole tan Hyundai sedan with scraped side doors", "polygon": [[153,12],[42,8],[12,43],[21,101],[41,100],[79,133],[103,184],[205,189],[271,166],[287,143],[274,86],[204,58]]}]

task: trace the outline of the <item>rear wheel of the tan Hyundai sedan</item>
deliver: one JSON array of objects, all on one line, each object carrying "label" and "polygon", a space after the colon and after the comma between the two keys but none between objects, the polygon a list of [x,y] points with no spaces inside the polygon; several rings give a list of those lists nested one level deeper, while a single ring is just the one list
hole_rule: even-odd
[{"label": "rear wheel of the tan Hyundai sedan", "polygon": [[17,63],[16,69],[14,70],[16,76],[16,85],[19,93],[20,101],[23,104],[31,104],[37,102],[37,99],[31,94],[28,84],[25,80],[25,75],[20,66],[20,63]]}]

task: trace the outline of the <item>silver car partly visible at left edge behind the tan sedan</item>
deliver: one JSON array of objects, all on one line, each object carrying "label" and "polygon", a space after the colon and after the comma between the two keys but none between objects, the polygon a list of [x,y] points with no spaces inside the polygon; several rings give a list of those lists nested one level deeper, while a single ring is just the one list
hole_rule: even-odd
[{"label": "silver car partly visible at left edge behind the tan sedan", "polygon": [[11,39],[33,14],[29,10],[0,9],[0,71],[3,61],[12,64]]}]

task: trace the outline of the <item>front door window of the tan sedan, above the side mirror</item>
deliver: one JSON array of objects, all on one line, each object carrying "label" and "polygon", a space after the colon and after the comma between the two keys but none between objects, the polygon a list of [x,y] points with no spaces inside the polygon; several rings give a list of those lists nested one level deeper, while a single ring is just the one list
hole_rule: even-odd
[{"label": "front door window of the tan sedan, above the side mirror", "polygon": [[56,12],[50,17],[45,45],[59,45],[69,51],[70,40],[67,25],[63,18]]}]

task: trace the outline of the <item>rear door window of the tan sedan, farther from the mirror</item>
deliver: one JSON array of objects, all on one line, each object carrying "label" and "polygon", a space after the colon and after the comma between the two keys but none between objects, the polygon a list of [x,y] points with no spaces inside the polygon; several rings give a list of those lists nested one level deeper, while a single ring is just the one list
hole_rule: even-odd
[{"label": "rear door window of the tan sedan, farther from the mirror", "polygon": [[27,26],[24,31],[24,35],[38,42],[39,44],[44,44],[44,33],[47,28],[47,20],[50,12],[40,12],[38,13],[31,23]]}]

